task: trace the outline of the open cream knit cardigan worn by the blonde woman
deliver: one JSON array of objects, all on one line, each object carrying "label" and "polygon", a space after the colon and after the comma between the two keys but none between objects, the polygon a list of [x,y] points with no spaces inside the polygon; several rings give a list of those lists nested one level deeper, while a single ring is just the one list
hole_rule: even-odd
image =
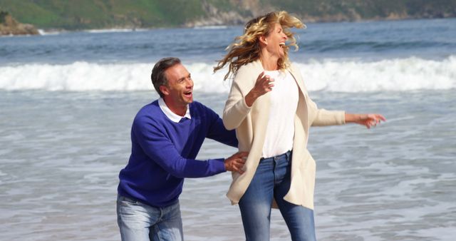
[{"label": "open cream knit cardigan worn by the blonde woman", "polygon": [[[242,66],[237,71],[223,111],[223,123],[228,130],[236,129],[239,150],[248,151],[244,173],[232,173],[233,181],[227,197],[237,204],[249,187],[257,170],[266,134],[269,116],[269,93],[257,98],[251,108],[245,103],[245,96],[254,87],[259,73],[264,71],[260,61]],[[299,101],[294,117],[293,155],[291,160],[291,185],[284,200],[314,209],[314,187],[316,163],[307,150],[309,127],[311,125],[345,124],[343,111],[318,109],[304,87],[304,81],[297,68],[287,71],[299,87]]]}]

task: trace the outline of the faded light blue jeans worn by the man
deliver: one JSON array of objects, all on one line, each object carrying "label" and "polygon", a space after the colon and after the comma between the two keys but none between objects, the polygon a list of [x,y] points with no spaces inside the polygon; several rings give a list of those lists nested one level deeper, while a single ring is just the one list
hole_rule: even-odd
[{"label": "faded light blue jeans worn by the man", "polygon": [[117,222],[123,241],[184,240],[180,205],[151,207],[118,195]]}]

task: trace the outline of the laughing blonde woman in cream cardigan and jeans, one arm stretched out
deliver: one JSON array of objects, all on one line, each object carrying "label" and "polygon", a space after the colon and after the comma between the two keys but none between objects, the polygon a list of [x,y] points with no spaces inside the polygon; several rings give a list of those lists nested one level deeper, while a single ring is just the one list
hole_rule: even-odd
[{"label": "laughing blonde woman in cream cardigan and jeans, one arm stretched out", "polygon": [[306,148],[311,125],[358,123],[367,128],[385,120],[378,114],[318,109],[300,71],[289,62],[289,28],[304,24],[286,11],[246,24],[214,71],[227,64],[234,76],[223,121],[236,129],[239,150],[249,156],[241,175],[233,173],[227,196],[239,203],[247,240],[269,240],[271,205],[279,207],[292,240],[316,240],[315,161]]}]

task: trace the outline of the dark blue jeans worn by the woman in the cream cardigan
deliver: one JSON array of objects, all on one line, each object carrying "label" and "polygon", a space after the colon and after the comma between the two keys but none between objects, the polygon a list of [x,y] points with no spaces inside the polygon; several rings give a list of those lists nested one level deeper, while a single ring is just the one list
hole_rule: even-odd
[{"label": "dark blue jeans worn by the woman in the cream cardigan", "polygon": [[291,152],[261,159],[252,183],[239,200],[246,240],[269,240],[271,205],[276,200],[291,240],[316,240],[314,211],[284,200],[290,189]]}]

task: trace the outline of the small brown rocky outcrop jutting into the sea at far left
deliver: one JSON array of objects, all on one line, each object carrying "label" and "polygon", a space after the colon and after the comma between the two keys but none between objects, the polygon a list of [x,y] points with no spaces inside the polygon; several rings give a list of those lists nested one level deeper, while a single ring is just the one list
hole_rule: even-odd
[{"label": "small brown rocky outcrop jutting into the sea at far left", "polygon": [[0,11],[0,35],[39,34],[31,24],[21,24],[6,11]]}]

